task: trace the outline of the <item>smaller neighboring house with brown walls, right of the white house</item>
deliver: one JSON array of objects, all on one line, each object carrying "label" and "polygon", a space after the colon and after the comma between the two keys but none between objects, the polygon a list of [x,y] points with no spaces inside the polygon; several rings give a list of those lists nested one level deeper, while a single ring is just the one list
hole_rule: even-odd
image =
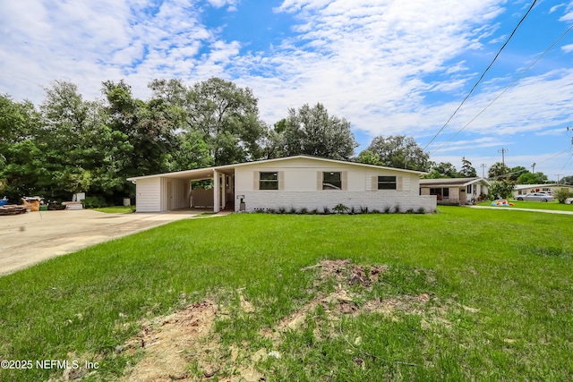
[{"label": "smaller neighboring house with brown walls, right of the white house", "polygon": [[485,199],[490,183],[483,178],[420,180],[421,195],[436,195],[438,204],[464,205]]}]

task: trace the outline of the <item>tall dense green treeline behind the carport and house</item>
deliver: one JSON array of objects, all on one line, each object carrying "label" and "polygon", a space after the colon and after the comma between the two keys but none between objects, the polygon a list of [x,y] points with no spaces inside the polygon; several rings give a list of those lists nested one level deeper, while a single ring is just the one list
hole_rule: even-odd
[{"label": "tall dense green treeline behind the carport and house", "polygon": [[192,86],[154,80],[147,101],[124,81],[105,81],[99,100],[54,81],[38,107],[0,96],[0,192],[12,200],[65,200],[79,191],[116,203],[125,179],[143,174],[309,154],[350,159],[350,123],[321,104],[289,109],[270,127],[251,89],[211,78]]}]

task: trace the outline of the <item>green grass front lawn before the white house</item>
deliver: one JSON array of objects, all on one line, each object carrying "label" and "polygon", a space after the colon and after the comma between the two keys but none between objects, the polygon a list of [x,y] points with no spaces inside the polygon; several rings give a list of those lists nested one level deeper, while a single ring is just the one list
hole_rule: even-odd
[{"label": "green grass front lawn before the white house", "polygon": [[[115,380],[141,356],[117,351],[141,318],[217,296],[230,311],[216,325],[224,349],[282,354],[256,364],[269,381],[573,378],[570,216],[439,211],[191,219],[51,259],[0,277],[0,359],[89,354],[100,366],[84,379]],[[431,300],[336,320],[336,307],[319,305],[280,341],[262,336],[337,290],[337,281],[317,284],[317,271],[301,270],[321,259],[388,265],[370,287],[347,286],[356,309],[421,293]],[[239,288],[251,314],[238,310]],[[190,366],[200,376],[198,368]],[[62,370],[0,370],[0,380],[58,376]]]}]

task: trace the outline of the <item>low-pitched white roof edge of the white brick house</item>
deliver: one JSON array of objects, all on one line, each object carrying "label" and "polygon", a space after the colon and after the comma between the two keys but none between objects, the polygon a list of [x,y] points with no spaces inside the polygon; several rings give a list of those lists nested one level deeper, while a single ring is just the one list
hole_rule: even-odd
[{"label": "low-pitched white roof edge of the white brick house", "polygon": [[131,182],[137,182],[138,179],[149,179],[149,178],[155,178],[155,177],[196,179],[196,180],[207,179],[210,176],[212,176],[214,171],[217,171],[219,173],[224,173],[224,174],[232,174],[235,171],[236,167],[260,165],[263,163],[285,162],[288,160],[300,159],[300,158],[316,160],[318,162],[338,163],[338,164],[346,165],[346,166],[372,167],[372,168],[376,168],[376,169],[386,169],[386,170],[399,171],[399,172],[403,172],[403,173],[418,174],[418,175],[426,174],[426,173],[423,173],[421,171],[406,170],[406,169],[402,169],[402,168],[368,165],[368,164],[364,164],[364,163],[347,162],[345,160],[329,159],[329,158],[325,158],[325,157],[312,157],[312,156],[307,156],[307,155],[297,155],[294,157],[278,157],[278,158],[274,158],[274,159],[263,159],[263,160],[257,160],[257,161],[252,161],[252,162],[237,163],[234,165],[196,168],[193,170],[176,171],[173,173],[133,176],[131,178],[127,178],[127,180],[131,181]]}]

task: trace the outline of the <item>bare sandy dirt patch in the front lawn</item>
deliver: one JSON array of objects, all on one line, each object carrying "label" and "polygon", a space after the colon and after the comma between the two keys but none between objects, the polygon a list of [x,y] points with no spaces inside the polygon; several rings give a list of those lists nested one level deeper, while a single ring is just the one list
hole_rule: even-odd
[{"label": "bare sandy dirt patch in the front lawn", "polygon": [[[309,317],[319,306],[326,319],[316,318],[315,334],[321,337],[320,328],[329,327],[328,336],[340,335],[338,322],[341,318],[352,318],[372,312],[388,315],[423,314],[426,310],[432,318],[422,320],[424,329],[432,325],[447,325],[444,318],[433,318],[437,310],[430,307],[434,300],[432,293],[416,295],[401,294],[387,299],[364,299],[365,292],[372,290],[372,284],[380,281],[389,267],[352,264],[349,260],[322,260],[305,267],[303,271],[316,273],[314,298],[301,309],[278,320],[273,327],[263,327],[259,331],[272,343],[270,349],[252,349],[249,344],[232,345],[225,349],[221,344],[215,324],[218,319],[229,318],[229,307],[218,305],[218,298],[204,300],[187,306],[172,315],[155,318],[142,324],[141,333],[125,346],[124,352],[142,352],[142,360],[129,373],[124,381],[172,381],[208,380],[222,381],[264,381],[265,376],[258,371],[257,364],[269,357],[280,358],[277,349],[288,330],[301,330]],[[335,283],[333,292],[321,292],[327,283]],[[331,291],[331,288],[330,288]],[[239,314],[256,314],[257,306],[238,293]],[[363,295],[364,293],[364,295]],[[436,299],[437,300],[437,299]],[[223,299],[220,299],[223,301]],[[321,332],[322,335],[324,331]]]}]

